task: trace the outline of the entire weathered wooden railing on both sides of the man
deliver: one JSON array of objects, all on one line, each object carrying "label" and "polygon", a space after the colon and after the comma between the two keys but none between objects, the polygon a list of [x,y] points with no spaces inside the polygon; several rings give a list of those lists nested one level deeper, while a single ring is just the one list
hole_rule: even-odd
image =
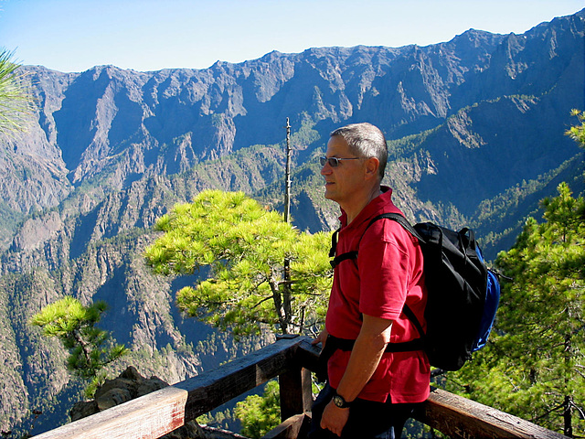
[{"label": "entire weathered wooden railing on both sides of the man", "polygon": [[[318,348],[285,337],[219,369],[125,402],[34,439],[156,439],[224,402],[279,377],[283,423],[264,439],[302,437],[310,420],[311,371]],[[505,412],[433,390],[415,419],[452,438],[565,438]]]}]

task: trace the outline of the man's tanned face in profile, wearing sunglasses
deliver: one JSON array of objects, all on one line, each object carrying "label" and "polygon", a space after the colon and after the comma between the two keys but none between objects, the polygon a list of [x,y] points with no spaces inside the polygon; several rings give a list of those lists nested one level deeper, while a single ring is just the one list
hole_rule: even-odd
[{"label": "man's tanned face in profile, wearing sunglasses", "polygon": [[[349,151],[346,140],[338,135],[329,139],[325,156],[356,157]],[[364,160],[341,160],[335,167],[325,163],[321,175],[325,179],[325,198],[337,202],[343,209],[356,202],[356,198],[361,198],[359,189],[364,185]]]}]

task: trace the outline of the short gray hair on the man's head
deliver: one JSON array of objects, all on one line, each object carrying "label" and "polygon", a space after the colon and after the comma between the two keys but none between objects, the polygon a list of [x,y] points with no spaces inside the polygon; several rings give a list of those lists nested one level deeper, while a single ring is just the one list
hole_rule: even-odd
[{"label": "short gray hair on the man's head", "polygon": [[380,162],[378,176],[380,181],[384,177],[386,162],[388,161],[388,145],[386,137],[380,129],[371,123],[351,123],[337,128],[331,137],[343,137],[349,146],[349,151],[359,157],[376,157]]}]

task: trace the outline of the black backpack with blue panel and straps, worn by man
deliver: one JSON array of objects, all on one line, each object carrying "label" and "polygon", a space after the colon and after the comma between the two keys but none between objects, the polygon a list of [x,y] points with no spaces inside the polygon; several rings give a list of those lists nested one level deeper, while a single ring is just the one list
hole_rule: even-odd
[{"label": "black backpack with blue panel and straps, worn by man", "polygon": [[[414,324],[420,338],[406,343],[388,343],[388,352],[424,349],[431,366],[458,370],[483,348],[494,324],[500,298],[496,274],[484,262],[473,230],[449,230],[431,222],[414,227],[402,215],[384,213],[372,219],[392,219],[420,241],[424,258],[428,300],[425,307],[427,332],[408,305],[402,312]],[[357,252],[335,256],[336,235],[332,237],[330,256],[336,266],[346,259],[356,259]],[[350,350],[349,348],[345,350]]]}]

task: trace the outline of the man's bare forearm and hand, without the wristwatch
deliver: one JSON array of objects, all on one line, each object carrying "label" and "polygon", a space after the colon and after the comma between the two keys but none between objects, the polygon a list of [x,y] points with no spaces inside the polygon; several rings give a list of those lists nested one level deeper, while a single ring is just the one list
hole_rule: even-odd
[{"label": "man's bare forearm and hand, without the wristwatch", "polygon": [[[346,373],[337,388],[337,394],[343,396],[346,402],[354,401],[362,391],[378,368],[378,363],[390,341],[392,320],[363,316],[364,322],[352,349]],[[340,436],[346,425],[349,410],[351,409],[340,409],[333,402],[329,402],[321,418],[321,428],[329,429]]]}]

